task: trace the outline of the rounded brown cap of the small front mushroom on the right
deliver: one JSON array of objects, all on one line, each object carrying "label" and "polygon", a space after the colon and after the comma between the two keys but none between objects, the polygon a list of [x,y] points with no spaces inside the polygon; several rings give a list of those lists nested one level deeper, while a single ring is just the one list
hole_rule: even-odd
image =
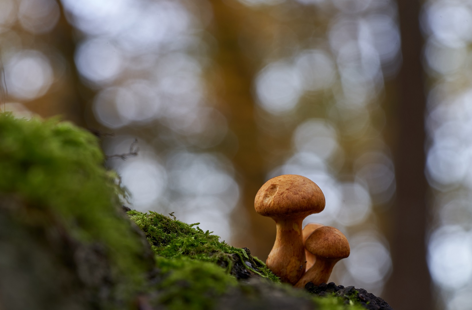
[{"label": "rounded brown cap of the small front mushroom on the right", "polygon": [[351,252],[346,236],[332,226],[323,226],[313,231],[306,239],[305,249],[327,260],[344,259]]}]

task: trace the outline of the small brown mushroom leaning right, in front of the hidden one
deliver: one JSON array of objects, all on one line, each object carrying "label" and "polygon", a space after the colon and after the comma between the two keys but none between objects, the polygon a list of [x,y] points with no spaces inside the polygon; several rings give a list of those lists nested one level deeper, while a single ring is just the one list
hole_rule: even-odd
[{"label": "small brown mushroom leaning right, in front of the hidden one", "polygon": [[305,249],[316,257],[316,261],[295,284],[295,287],[304,287],[308,282],[314,285],[327,283],[334,265],[339,260],[348,257],[350,253],[346,236],[332,226],[316,229],[306,239]]}]

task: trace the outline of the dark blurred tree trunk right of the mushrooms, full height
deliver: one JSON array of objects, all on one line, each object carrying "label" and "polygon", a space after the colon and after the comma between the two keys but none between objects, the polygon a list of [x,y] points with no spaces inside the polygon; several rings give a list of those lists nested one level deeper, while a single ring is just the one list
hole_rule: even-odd
[{"label": "dark blurred tree trunk right of the mushrooms, full height", "polygon": [[403,65],[397,77],[396,204],[392,231],[393,273],[386,299],[394,309],[433,309],[426,263],[429,212],[424,175],[426,97],[421,66],[420,1],[398,0]]}]

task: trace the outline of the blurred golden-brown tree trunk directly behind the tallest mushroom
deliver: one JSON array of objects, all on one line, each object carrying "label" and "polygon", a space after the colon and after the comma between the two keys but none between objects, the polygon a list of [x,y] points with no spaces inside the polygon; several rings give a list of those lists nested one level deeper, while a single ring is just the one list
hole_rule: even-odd
[{"label": "blurred golden-brown tree trunk directly behind the tallest mushroom", "polygon": [[254,197],[264,182],[264,171],[251,93],[254,68],[241,51],[239,42],[239,26],[249,10],[236,2],[234,5],[237,7],[229,7],[221,0],[212,0],[211,5],[214,14],[212,32],[218,42],[218,53],[215,56],[217,67],[212,84],[217,92],[220,109],[227,112],[229,127],[238,139],[233,163],[239,172],[236,177],[241,185],[240,203],[249,217],[247,226],[234,227],[236,235],[233,236],[232,244],[248,247],[253,255],[265,260],[272,243],[264,240],[275,240],[275,224],[254,210]]}]

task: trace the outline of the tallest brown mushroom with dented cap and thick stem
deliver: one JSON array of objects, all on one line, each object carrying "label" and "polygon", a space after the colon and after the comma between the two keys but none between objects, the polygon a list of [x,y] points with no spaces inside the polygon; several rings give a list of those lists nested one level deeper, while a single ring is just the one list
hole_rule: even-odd
[{"label": "tallest brown mushroom with dented cap and thick stem", "polygon": [[275,243],[266,264],[283,282],[295,284],[303,276],[303,218],[321,212],[324,206],[323,192],[304,176],[276,176],[257,192],[256,212],[272,218],[277,226]]}]

